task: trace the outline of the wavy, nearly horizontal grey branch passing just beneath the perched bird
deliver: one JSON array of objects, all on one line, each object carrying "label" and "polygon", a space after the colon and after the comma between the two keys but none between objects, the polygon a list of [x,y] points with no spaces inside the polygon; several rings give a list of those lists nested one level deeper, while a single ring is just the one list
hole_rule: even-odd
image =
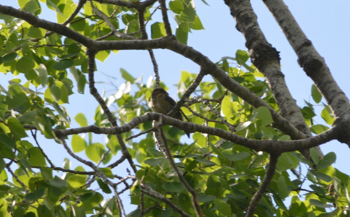
[{"label": "wavy, nearly horizontal grey branch passing just beneath the perched bird", "polygon": [[[73,128],[68,130],[54,129],[54,132],[56,133],[57,137],[65,137],[72,134],[86,133],[86,132],[93,132],[96,134],[120,134],[124,132],[129,132],[140,123],[159,120],[160,116],[162,116],[163,124],[175,126],[183,130],[193,130],[196,132],[211,134],[211,135],[229,140],[235,144],[243,145],[250,149],[254,149],[256,151],[265,151],[268,153],[299,151],[303,149],[310,149],[311,147],[316,147],[317,145],[321,145],[323,143],[329,142],[332,139],[335,139],[337,135],[338,127],[341,127],[340,125],[339,126],[337,125],[321,134],[318,134],[314,137],[309,137],[306,139],[291,140],[291,141],[254,140],[254,139],[247,139],[245,137],[238,136],[236,134],[225,131],[223,129],[181,121],[181,120],[166,116],[164,114],[156,113],[156,112],[147,112],[143,116],[139,116],[131,119],[131,121],[128,124],[125,124],[120,127],[116,126],[116,127],[110,128],[110,127],[97,127],[95,125],[91,125],[91,126]],[[32,125],[24,125],[23,127],[25,127],[26,129],[36,129],[35,126],[32,126]]]}]

